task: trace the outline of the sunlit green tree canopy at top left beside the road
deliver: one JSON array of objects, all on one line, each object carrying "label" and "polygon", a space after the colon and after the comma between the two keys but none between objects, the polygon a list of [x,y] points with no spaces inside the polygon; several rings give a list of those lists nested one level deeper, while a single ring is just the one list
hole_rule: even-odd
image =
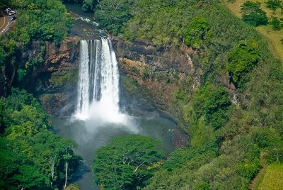
[{"label": "sunlit green tree canopy at top left beside the road", "polygon": [[16,29],[11,35],[23,45],[31,40],[59,43],[67,37],[71,20],[61,1],[11,0],[10,6],[17,11]]}]

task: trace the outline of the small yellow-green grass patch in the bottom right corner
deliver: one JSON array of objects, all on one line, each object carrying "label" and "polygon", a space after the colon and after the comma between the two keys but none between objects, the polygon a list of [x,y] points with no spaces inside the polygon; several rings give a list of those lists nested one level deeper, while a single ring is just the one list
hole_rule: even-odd
[{"label": "small yellow-green grass patch in the bottom right corner", "polygon": [[282,190],[283,189],[283,164],[271,164],[265,169],[264,177],[258,186],[258,190]]}]

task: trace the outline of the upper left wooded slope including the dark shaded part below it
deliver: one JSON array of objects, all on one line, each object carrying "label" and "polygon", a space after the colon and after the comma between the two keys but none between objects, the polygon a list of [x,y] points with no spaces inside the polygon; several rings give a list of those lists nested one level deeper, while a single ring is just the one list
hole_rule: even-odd
[{"label": "upper left wooded slope including the dark shaded part below it", "polygon": [[17,11],[13,30],[0,36],[0,94],[13,84],[26,86],[45,61],[45,41],[57,45],[67,37],[71,18],[61,1],[6,1]]}]

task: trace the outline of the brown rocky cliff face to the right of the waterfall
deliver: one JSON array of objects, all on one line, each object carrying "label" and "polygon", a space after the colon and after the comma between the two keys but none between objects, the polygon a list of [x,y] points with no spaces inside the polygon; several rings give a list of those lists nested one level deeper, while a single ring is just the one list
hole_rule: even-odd
[{"label": "brown rocky cliff face to the right of the waterfall", "polygon": [[196,52],[186,45],[158,49],[140,41],[125,43],[117,37],[113,41],[122,74],[148,89],[154,104],[163,111],[171,106],[173,91],[181,79],[192,76],[194,86],[200,85],[202,70],[192,62]]}]

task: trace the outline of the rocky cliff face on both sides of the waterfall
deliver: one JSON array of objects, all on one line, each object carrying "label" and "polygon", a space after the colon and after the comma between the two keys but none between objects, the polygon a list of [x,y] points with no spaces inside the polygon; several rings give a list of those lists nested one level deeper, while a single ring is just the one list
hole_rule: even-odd
[{"label": "rocky cliff face on both sides of the waterfall", "polygon": [[[39,97],[45,111],[53,116],[68,116],[74,113],[79,71],[79,40],[78,37],[71,37],[60,45],[46,42],[44,63],[33,76],[30,76],[28,84],[24,86]],[[168,111],[173,91],[181,79],[190,75],[195,77],[195,86],[200,84],[202,70],[192,62],[191,57],[195,56],[195,52],[185,45],[158,49],[140,41],[125,43],[117,37],[113,39],[113,44],[122,74],[123,105],[132,99],[132,102],[141,104],[140,106],[146,109],[157,106],[163,111]],[[22,53],[23,61],[18,67],[23,67],[26,60],[36,57],[39,53],[40,44],[34,43],[33,48]],[[12,73],[16,73],[16,69],[13,68]],[[124,76],[129,77],[131,82],[125,80]],[[6,75],[0,74],[0,84],[8,84],[6,81]],[[137,83],[139,88],[125,88],[125,81],[130,84]],[[11,82],[13,79],[9,84]],[[4,87],[9,88],[7,85]],[[152,99],[150,101],[149,96]]]}]

